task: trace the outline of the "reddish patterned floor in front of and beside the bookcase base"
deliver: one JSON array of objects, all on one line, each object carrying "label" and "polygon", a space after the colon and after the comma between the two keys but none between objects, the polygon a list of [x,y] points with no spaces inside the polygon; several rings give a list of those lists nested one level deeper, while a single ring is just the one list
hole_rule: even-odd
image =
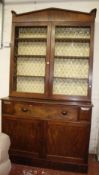
[{"label": "reddish patterned floor in front of and beside the bookcase base", "polygon": [[88,174],[12,164],[10,175],[99,175],[99,162],[89,160]]}]

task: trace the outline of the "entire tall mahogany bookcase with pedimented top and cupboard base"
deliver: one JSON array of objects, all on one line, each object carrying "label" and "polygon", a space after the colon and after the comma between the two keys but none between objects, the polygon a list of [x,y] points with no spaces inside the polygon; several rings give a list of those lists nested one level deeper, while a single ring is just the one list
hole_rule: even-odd
[{"label": "entire tall mahogany bookcase with pedimented top and cupboard base", "polygon": [[95,16],[96,9],[12,12],[2,130],[13,161],[87,171]]}]

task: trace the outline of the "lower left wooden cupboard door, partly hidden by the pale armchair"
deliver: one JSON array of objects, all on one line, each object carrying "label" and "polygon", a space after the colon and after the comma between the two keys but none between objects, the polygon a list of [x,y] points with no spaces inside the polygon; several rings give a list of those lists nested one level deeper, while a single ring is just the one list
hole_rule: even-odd
[{"label": "lower left wooden cupboard door, partly hidden by the pale armchair", "polygon": [[39,157],[40,122],[13,117],[3,117],[3,132],[11,138],[11,152],[19,156]]}]

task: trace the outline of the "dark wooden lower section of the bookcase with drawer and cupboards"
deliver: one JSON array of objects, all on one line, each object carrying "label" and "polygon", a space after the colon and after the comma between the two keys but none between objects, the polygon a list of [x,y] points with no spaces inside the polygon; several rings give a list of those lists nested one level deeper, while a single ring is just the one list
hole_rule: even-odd
[{"label": "dark wooden lower section of the bookcase with drawer and cupboards", "polygon": [[2,100],[12,162],[87,172],[91,104]]}]

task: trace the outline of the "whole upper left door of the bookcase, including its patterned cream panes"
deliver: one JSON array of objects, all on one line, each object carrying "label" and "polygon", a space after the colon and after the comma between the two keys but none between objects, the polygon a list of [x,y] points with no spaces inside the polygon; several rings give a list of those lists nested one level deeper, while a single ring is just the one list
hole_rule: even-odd
[{"label": "whole upper left door of the bookcase, including its patterned cream panes", "polygon": [[13,25],[12,95],[48,95],[50,29],[46,23]]}]

